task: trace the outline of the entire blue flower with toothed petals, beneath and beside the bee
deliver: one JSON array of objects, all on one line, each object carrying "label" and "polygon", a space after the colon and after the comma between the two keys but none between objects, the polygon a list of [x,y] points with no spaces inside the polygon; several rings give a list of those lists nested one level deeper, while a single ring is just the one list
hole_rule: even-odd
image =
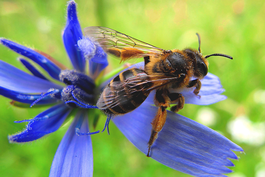
[{"label": "entire blue flower with toothed petals, beneath and beside the bee", "polygon": [[[60,128],[71,112],[75,112],[68,131],[56,151],[50,176],[93,176],[93,153],[87,117],[98,99],[98,92],[110,81],[96,86],[94,79],[108,65],[107,56],[99,47],[83,37],[77,18],[76,3],[68,2],[67,22],[63,31],[63,42],[74,70],[69,70],[49,55],[1,38],[0,42],[26,57],[19,58],[32,75],[0,61],[0,94],[12,99],[15,106],[53,104],[33,119],[15,121],[28,122],[21,132],[9,135],[11,143],[37,140]],[[44,76],[29,60],[41,66],[50,76]],[[89,62],[89,74],[85,68]],[[143,62],[131,67],[141,68]],[[131,68],[130,67],[130,68]],[[57,80],[53,82],[52,80]],[[58,84],[59,81],[63,84]],[[224,89],[217,76],[208,73],[201,80],[200,98],[192,91],[181,92],[185,103],[209,105],[224,100],[220,95]],[[147,142],[156,112],[152,106],[154,93],[136,110],[116,116],[113,122],[139,150],[147,154]],[[90,132],[90,133],[89,133]],[[76,148],[78,147],[78,148]],[[168,111],[164,125],[152,145],[151,158],[173,169],[194,176],[225,176],[234,166],[229,159],[238,159],[235,151],[243,151],[216,131],[189,118]],[[228,159],[229,158],[229,159]]]}]

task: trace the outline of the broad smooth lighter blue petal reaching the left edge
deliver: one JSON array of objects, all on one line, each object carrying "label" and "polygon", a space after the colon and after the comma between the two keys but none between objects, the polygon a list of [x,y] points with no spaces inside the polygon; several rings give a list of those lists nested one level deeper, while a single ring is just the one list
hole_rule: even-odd
[{"label": "broad smooth lighter blue petal reaching the left edge", "polygon": [[21,93],[46,93],[50,88],[62,89],[62,86],[29,75],[1,60],[0,86]]}]

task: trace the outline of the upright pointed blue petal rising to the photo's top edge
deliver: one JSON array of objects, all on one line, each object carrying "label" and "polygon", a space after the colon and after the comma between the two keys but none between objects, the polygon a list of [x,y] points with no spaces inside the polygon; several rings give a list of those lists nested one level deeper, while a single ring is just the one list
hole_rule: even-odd
[{"label": "upright pointed blue petal rising to the photo's top edge", "polygon": [[77,41],[82,39],[82,31],[77,19],[75,1],[68,2],[67,21],[63,32],[63,42],[66,52],[77,71],[84,72],[85,58],[79,49]]}]

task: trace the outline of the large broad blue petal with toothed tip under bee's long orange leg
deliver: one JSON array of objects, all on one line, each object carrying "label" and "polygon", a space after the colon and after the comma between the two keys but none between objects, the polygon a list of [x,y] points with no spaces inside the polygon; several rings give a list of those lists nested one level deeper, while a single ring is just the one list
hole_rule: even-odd
[{"label": "large broad blue petal with toothed tip under bee's long orange leg", "polygon": [[[113,122],[144,154],[151,135],[152,119],[157,108],[143,103],[130,114],[117,116]],[[241,147],[216,131],[171,111],[151,147],[150,155],[175,170],[200,177],[225,176],[233,166],[228,159],[238,159],[231,150]]]}]

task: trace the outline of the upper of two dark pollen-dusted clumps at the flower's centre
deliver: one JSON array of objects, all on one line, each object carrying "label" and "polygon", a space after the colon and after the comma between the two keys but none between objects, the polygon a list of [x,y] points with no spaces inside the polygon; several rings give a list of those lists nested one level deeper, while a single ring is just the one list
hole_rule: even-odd
[{"label": "upper of two dark pollen-dusted clumps at the flower's centre", "polygon": [[60,72],[60,81],[67,85],[78,86],[83,91],[92,94],[95,88],[93,79],[75,70],[63,70]]}]

